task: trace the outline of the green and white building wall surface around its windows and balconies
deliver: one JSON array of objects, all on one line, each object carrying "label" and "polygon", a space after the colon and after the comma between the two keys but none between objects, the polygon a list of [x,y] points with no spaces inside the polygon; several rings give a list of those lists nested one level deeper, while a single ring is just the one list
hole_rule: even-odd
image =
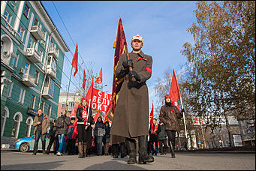
[{"label": "green and white building wall surface around its windows and balconies", "polygon": [[[25,6],[29,6],[29,15],[26,17],[23,14]],[[7,24],[4,15],[5,11],[8,10],[11,13],[11,22]],[[48,107],[51,105],[50,117],[55,119],[58,113],[58,103],[59,103],[59,92],[61,89],[62,82],[62,69],[65,52],[68,52],[68,46],[66,46],[65,41],[62,39],[58,30],[53,31],[53,22],[49,16],[43,16],[42,13],[47,13],[42,7],[40,1],[1,1],[1,40],[2,42],[7,42],[10,45],[11,56],[5,58],[3,53],[1,53],[1,69],[6,72],[5,76],[7,80],[3,86],[1,86],[1,126],[5,125],[2,136],[11,137],[12,128],[14,125],[14,116],[20,115],[20,128],[18,129],[17,138],[23,138],[26,134],[27,119],[34,119],[35,113],[28,113],[28,108],[31,104],[32,95],[35,95],[35,106],[32,110],[37,112],[39,106],[41,106],[41,101],[44,101],[44,113],[48,113]],[[47,18],[49,17],[49,18]],[[36,40],[31,34],[32,25],[38,20],[38,26],[41,29],[45,29],[46,36],[43,40]],[[50,20],[49,20],[50,19]],[[23,27],[23,36],[20,37],[17,34],[20,26]],[[35,49],[36,51],[42,52],[41,62],[33,63],[30,62],[26,57],[26,49],[29,45],[30,39],[35,39]],[[45,78],[45,66],[47,64],[47,56],[49,43],[48,41],[53,40],[56,49],[59,49],[59,57],[56,67],[56,78],[54,81],[54,92],[53,99],[47,99],[43,95],[41,96],[42,88],[44,88],[44,78]],[[4,45],[5,46],[5,45]],[[14,59],[16,55],[19,55],[17,60],[17,66],[14,65]],[[39,72],[38,84],[35,87],[26,86],[23,83],[23,74],[19,73],[20,68],[25,68],[26,62],[30,65],[29,74],[35,77],[35,71]],[[13,84],[11,91],[11,96],[8,97],[8,92]],[[20,89],[25,89],[24,103],[19,103]],[[8,110],[8,118],[5,118],[5,110]],[[4,121],[5,120],[5,121]],[[5,123],[4,123],[5,122]],[[2,128],[1,127],[1,128]],[[32,135],[34,127],[31,128],[30,135]],[[1,142],[4,143],[4,142]]]}]

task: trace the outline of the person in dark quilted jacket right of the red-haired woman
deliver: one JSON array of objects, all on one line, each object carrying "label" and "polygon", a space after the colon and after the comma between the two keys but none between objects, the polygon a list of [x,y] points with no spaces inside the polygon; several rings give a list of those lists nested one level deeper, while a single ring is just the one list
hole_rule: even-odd
[{"label": "person in dark quilted jacket right of the red-haired woman", "polygon": [[96,139],[96,154],[101,155],[102,154],[102,140],[105,136],[105,125],[102,121],[101,116],[98,117],[95,128],[94,128],[94,136]]}]

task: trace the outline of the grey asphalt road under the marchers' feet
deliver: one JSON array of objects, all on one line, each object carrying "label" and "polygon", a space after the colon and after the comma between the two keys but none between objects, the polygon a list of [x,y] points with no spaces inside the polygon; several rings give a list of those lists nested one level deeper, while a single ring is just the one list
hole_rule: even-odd
[{"label": "grey asphalt road under the marchers' feet", "polygon": [[154,156],[155,162],[146,164],[127,164],[128,157],[114,159],[112,156],[95,156],[79,159],[77,155],[56,156],[32,152],[1,151],[1,170],[38,169],[86,169],[86,170],[255,170],[255,154],[251,153],[209,153],[176,152]]}]

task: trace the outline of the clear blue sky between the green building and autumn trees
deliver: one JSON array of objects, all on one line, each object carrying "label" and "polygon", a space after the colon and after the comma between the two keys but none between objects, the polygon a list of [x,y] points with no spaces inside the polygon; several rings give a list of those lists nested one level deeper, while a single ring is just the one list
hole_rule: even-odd
[{"label": "clear blue sky between the green building and autumn trees", "polygon": [[[186,58],[180,52],[185,42],[193,43],[187,29],[195,22],[196,1],[41,1],[53,23],[57,26],[71,52],[78,43],[79,65],[92,68],[99,74],[102,68],[104,92],[112,93],[114,49],[113,42],[119,18],[125,29],[128,51],[131,52],[131,37],[140,34],[144,39],[143,52],[152,55],[152,77],[149,87],[149,108],[155,99],[154,86],[168,68],[176,71],[179,77]],[[59,14],[65,26],[62,23]],[[71,37],[74,41],[71,40]],[[73,55],[66,52],[62,74],[62,89],[65,92],[71,74]],[[82,58],[83,59],[82,59]],[[68,58],[68,59],[67,59]],[[92,64],[92,65],[91,65]],[[78,73],[72,71],[69,92],[75,92],[79,85]],[[66,77],[67,75],[68,77]],[[87,84],[87,82],[86,82]],[[89,83],[90,84],[90,83]]]}]

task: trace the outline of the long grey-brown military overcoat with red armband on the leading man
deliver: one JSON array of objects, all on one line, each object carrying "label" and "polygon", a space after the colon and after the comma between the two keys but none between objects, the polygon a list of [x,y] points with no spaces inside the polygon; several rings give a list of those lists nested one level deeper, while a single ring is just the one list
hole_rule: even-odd
[{"label": "long grey-brown military overcoat with red armband on the leading man", "polygon": [[117,78],[124,78],[116,103],[115,113],[110,134],[134,138],[148,135],[149,127],[149,92],[146,80],[152,74],[152,56],[130,52],[130,60],[134,64],[133,71],[140,76],[140,82],[129,83],[128,71],[122,66],[127,61],[126,54],[122,54],[115,74]]}]

